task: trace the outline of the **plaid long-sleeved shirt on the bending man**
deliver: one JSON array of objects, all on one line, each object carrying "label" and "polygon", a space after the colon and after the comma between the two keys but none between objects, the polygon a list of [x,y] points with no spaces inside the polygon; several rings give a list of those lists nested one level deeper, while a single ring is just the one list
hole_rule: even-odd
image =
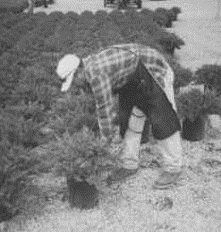
[{"label": "plaid long-sleeved shirt on the bending man", "polygon": [[115,97],[112,91],[127,82],[127,76],[136,70],[139,58],[164,88],[168,64],[157,50],[150,47],[140,44],[115,45],[83,59],[85,78],[95,96],[102,137],[107,138],[114,132]]}]

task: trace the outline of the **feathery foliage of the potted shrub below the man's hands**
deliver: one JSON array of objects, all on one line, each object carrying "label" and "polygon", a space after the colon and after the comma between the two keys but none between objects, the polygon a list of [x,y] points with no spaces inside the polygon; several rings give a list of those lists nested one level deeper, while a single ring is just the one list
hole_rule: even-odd
[{"label": "feathery foliage of the potted shrub below the man's hands", "polygon": [[89,130],[82,130],[70,136],[68,133],[47,147],[53,169],[56,173],[73,173],[77,180],[97,184],[103,172],[111,170],[115,158],[108,147]]}]

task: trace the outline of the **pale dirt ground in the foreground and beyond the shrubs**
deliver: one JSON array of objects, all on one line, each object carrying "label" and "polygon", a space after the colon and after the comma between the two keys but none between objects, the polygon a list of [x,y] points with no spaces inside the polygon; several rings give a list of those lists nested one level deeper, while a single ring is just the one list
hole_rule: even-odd
[{"label": "pale dirt ground in the foreground and beyond the shrubs", "polygon": [[[49,9],[81,12],[103,8],[102,0],[56,0]],[[186,46],[177,51],[182,65],[195,69],[202,64],[221,64],[221,20],[214,20],[216,0],[171,0],[150,2],[143,7],[180,6],[183,13],[172,31]],[[111,8],[107,9],[108,11]],[[157,159],[157,148],[144,149],[142,161],[148,166],[138,175],[104,193],[94,210],[69,210],[64,203],[51,206],[43,217],[31,219],[24,226],[11,224],[9,231],[32,232],[220,232],[221,231],[221,139],[206,137],[201,142],[183,141],[186,179],[183,186],[164,191],[152,189],[157,168],[148,166]],[[53,180],[52,180],[53,181]],[[63,180],[64,182],[64,180]],[[12,229],[13,228],[13,229]],[[17,229],[16,229],[17,228]],[[22,228],[22,229],[21,229]]]}]

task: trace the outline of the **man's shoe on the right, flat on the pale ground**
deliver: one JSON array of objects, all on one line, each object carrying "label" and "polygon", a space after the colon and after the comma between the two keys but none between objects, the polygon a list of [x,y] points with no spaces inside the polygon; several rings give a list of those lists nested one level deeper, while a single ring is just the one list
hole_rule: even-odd
[{"label": "man's shoe on the right, flat on the pale ground", "polygon": [[154,182],[153,188],[154,189],[168,189],[173,187],[179,183],[182,179],[182,171],[180,172],[162,172],[158,178]]}]

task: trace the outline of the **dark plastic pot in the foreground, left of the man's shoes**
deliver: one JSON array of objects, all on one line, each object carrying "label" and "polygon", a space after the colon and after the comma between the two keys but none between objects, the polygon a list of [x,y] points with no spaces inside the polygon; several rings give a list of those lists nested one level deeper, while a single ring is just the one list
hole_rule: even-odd
[{"label": "dark plastic pot in the foreground, left of the man's shoes", "polygon": [[71,208],[81,210],[92,209],[99,203],[99,192],[95,185],[86,181],[77,181],[73,175],[67,174],[68,201]]}]

